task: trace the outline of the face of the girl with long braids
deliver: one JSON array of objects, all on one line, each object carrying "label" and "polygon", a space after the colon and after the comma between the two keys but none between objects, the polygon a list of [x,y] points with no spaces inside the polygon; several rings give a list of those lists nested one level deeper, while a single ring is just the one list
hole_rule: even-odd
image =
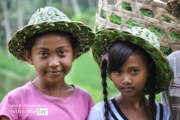
[{"label": "face of the girl with long braids", "polygon": [[131,55],[123,66],[111,73],[116,88],[124,96],[136,96],[144,93],[148,78],[148,65],[141,55]]}]

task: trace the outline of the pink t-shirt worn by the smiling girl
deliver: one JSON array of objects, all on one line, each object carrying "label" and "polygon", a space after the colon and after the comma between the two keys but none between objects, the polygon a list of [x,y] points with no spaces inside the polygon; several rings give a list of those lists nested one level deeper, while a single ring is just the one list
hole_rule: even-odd
[{"label": "pink t-shirt worn by the smiling girl", "polygon": [[68,98],[43,94],[29,82],[9,92],[0,103],[0,115],[10,120],[85,120],[94,102],[88,92],[75,87]]}]

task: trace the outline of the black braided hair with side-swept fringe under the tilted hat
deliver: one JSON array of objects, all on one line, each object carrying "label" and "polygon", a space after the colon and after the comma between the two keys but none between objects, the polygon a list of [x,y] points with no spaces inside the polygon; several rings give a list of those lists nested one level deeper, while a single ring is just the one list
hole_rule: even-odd
[{"label": "black braided hair with side-swept fringe under the tilted hat", "polygon": [[[141,47],[135,45],[130,42],[118,41],[112,43],[108,49],[108,61],[102,60],[101,62],[101,77],[102,77],[102,86],[103,86],[103,95],[104,95],[104,108],[105,108],[105,119],[109,120],[109,113],[112,111],[110,105],[108,103],[108,93],[107,93],[107,82],[106,76],[107,74],[111,74],[119,70],[126,62],[128,57],[133,54],[139,54],[145,59],[147,65],[151,65],[150,76],[147,79],[145,89],[147,94],[149,94],[149,103],[150,103],[150,116],[151,120],[155,120],[156,118],[156,103],[155,103],[155,76],[156,76],[156,66],[151,58],[151,56]],[[149,91],[147,91],[147,88]]]}]

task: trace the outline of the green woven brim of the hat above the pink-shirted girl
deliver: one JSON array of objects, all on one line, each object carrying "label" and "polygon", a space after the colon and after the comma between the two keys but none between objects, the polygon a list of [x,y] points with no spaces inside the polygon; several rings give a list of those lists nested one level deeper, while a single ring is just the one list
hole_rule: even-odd
[{"label": "green woven brim of the hat above the pink-shirted girl", "polygon": [[95,37],[92,30],[81,22],[43,22],[40,24],[26,26],[22,30],[17,31],[8,44],[10,53],[17,59],[25,61],[23,54],[26,39],[47,31],[65,31],[75,34],[79,40],[78,57],[89,51]]}]

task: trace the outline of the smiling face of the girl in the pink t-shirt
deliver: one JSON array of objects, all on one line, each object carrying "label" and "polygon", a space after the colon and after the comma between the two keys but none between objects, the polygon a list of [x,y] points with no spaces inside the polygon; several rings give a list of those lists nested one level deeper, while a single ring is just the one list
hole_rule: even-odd
[{"label": "smiling face of the girl in the pink t-shirt", "polygon": [[71,70],[77,52],[67,37],[48,33],[36,41],[31,54],[25,50],[25,57],[35,66],[40,80],[58,82]]}]

